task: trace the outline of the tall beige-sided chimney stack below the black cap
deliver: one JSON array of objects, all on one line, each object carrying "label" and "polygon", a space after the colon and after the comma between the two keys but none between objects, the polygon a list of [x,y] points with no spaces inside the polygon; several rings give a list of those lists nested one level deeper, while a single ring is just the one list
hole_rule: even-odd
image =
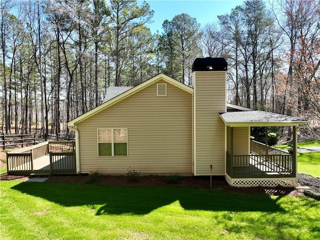
[{"label": "tall beige-sided chimney stack below the black cap", "polygon": [[225,174],[225,72],[193,72],[195,175]]}]

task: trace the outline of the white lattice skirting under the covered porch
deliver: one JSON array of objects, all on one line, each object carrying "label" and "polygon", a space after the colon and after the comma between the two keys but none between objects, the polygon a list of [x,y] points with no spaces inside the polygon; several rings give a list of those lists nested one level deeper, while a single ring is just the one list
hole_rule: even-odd
[{"label": "white lattice skirting under the covered porch", "polygon": [[225,180],[234,187],[296,187],[296,178],[231,178],[227,174]]}]

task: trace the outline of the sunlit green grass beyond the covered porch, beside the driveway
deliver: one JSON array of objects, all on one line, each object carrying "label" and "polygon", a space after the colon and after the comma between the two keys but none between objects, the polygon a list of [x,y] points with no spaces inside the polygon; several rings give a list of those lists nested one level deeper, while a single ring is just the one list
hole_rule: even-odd
[{"label": "sunlit green grass beyond the covered porch, beside the driveway", "polygon": [[[320,140],[306,141],[298,143],[298,147],[307,148],[320,146]],[[279,149],[287,149],[292,144],[275,146]],[[306,173],[315,177],[320,177],[320,152],[301,152],[298,156],[298,172]]]}]

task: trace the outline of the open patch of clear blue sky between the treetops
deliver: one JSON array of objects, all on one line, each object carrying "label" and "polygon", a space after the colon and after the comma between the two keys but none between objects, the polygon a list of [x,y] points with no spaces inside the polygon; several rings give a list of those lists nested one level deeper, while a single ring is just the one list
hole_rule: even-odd
[{"label": "open patch of clear blue sky between the treetops", "polygon": [[[206,23],[217,22],[219,15],[229,14],[231,9],[242,5],[242,0],[145,0],[154,11],[153,23],[148,27],[154,34],[158,30],[162,32],[164,20],[172,20],[175,15],[188,14],[196,18],[197,22],[203,26]],[[140,5],[142,1],[138,1]]]}]

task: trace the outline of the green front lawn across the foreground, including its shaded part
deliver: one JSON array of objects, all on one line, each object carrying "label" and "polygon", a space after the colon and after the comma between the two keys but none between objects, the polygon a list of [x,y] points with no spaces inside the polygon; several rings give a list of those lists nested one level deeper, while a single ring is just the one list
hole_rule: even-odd
[{"label": "green front lawn across the foreground, including its shaded part", "polygon": [[0,181],[1,239],[320,239],[320,202],[220,189]]}]

